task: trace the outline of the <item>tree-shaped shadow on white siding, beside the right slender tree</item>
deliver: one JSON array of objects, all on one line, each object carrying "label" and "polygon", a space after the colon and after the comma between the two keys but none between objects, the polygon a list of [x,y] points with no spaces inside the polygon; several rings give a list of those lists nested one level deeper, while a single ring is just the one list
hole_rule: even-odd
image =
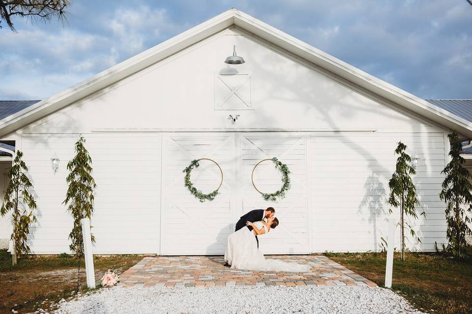
[{"label": "tree-shaped shadow on white siding, beside the right slender tree", "polygon": [[[374,247],[376,250],[383,249],[379,243],[378,220],[385,219],[385,187],[380,180],[379,174],[372,170],[372,164],[368,166],[370,174],[364,183],[365,194],[358,206],[358,213],[363,215],[365,211],[369,213],[369,225],[372,225]],[[362,218],[365,221],[365,218]]]}]

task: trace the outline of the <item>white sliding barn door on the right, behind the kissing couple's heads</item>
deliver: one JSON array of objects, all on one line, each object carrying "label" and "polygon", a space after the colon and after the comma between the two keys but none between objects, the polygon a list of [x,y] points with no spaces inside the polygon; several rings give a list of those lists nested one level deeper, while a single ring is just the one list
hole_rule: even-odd
[{"label": "white sliding barn door on the right, behind the kissing couple's heads", "polygon": [[[275,208],[280,220],[268,235],[259,236],[259,247],[265,254],[310,253],[308,236],[307,199],[307,136],[283,132],[238,133],[238,183],[236,221],[252,209]],[[262,159],[277,157],[291,171],[291,188],[286,197],[277,202],[265,201],[251,180],[254,166]],[[272,161],[256,167],[254,183],[264,193],[272,193],[282,186],[281,174]]]}]

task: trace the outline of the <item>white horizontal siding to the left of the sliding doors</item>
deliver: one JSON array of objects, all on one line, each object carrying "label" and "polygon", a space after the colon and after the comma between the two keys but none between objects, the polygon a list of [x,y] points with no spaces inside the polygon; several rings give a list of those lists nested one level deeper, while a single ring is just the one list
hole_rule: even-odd
[{"label": "white horizontal siding to the left of the sliding doors", "polygon": [[[159,253],[160,134],[85,134],[97,183],[94,253]],[[69,252],[72,217],[65,198],[67,162],[77,135],[23,136],[21,149],[34,183],[38,223],[31,228],[36,254]],[[54,174],[51,157],[59,157]]]}]

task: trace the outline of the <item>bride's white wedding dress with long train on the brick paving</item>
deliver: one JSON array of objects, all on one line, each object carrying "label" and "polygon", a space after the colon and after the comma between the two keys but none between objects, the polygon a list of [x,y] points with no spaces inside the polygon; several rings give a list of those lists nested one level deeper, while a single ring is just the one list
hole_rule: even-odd
[{"label": "bride's white wedding dress with long train on the brick paving", "polygon": [[[261,221],[254,223],[259,229],[264,226]],[[231,268],[248,269],[257,271],[283,271],[283,272],[307,272],[311,266],[294,262],[284,262],[280,260],[269,260],[257,248],[256,237],[253,231],[247,227],[228,236],[226,245],[225,261]]]}]

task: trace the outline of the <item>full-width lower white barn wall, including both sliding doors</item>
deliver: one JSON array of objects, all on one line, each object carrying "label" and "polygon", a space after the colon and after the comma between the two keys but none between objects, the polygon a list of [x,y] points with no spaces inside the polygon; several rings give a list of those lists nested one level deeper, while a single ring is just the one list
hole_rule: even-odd
[{"label": "full-width lower white barn wall, including both sliding doors", "polygon": [[[39,222],[29,238],[34,253],[69,251],[72,218],[61,203],[67,189],[66,164],[77,137],[22,138],[38,202]],[[410,222],[422,243],[408,236],[407,246],[433,251],[435,242],[446,243],[444,203],[439,198],[442,132],[103,133],[86,138],[98,185],[92,219],[95,253],[223,254],[239,216],[268,206],[276,209],[280,226],[260,237],[266,254],[381,250],[388,180],[399,140],[412,156],[421,158],[414,177],[421,200],[417,211],[427,213]],[[60,159],[56,174],[51,169],[54,154]],[[218,162],[224,181],[213,202],[201,203],[184,186],[182,170],[204,157]],[[254,165],[271,157],[291,171],[291,189],[277,202],[265,201],[251,181]],[[210,161],[202,161],[191,178],[207,193],[217,187],[220,173]],[[282,184],[270,161],[256,168],[254,181],[263,192]],[[394,215],[399,216],[397,209]],[[396,235],[399,243],[399,228]]]}]

